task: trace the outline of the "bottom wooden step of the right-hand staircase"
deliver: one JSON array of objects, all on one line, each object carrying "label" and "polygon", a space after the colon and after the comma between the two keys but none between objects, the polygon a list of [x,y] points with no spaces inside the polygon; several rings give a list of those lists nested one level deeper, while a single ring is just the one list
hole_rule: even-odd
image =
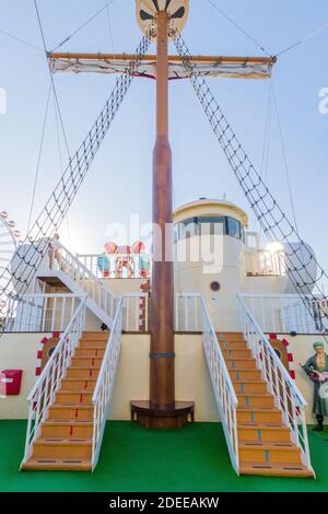
[{"label": "bottom wooden step of the right-hand staircase", "polygon": [[241,463],[241,475],[259,475],[265,477],[314,477],[314,472],[301,464],[258,464],[253,462]]}]

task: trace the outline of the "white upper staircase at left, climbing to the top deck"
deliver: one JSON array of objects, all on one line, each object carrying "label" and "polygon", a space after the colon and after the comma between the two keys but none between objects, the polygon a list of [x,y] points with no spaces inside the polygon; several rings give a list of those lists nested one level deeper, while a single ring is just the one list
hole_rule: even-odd
[{"label": "white upper staircase at left, climbing to the top deck", "polygon": [[45,259],[36,278],[47,283],[61,283],[78,296],[86,295],[86,308],[112,328],[118,297],[65,246],[60,248],[60,257],[54,259],[51,269]]}]

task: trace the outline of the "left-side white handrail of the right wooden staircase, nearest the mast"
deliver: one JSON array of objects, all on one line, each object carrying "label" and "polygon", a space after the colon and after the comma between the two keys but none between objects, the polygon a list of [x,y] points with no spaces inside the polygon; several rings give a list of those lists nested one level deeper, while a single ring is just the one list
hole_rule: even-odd
[{"label": "left-side white handrail of the right wooden staircase, nearest the mast", "polygon": [[239,474],[237,407],[238,399],[213,328],[206,301],[199,295],[202,309],[202,344],[212,381],[223,432],[232,466]]}]

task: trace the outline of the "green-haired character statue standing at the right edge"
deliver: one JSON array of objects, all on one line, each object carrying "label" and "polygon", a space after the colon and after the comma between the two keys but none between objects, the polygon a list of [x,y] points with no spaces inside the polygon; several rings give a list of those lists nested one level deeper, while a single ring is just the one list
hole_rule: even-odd
[{"label": "green-haired character statue standing at the right edge", "polygon": [[324,384],[328,381],[328,355],[325,353],[323,342],[317,341],[313,347],[316,354],[312,355],[302,367],[314,382],[313,412],[316,414],[317,425],[313,430],[323,432],[324,419],[328,416],[328,398],[323,390]]}]

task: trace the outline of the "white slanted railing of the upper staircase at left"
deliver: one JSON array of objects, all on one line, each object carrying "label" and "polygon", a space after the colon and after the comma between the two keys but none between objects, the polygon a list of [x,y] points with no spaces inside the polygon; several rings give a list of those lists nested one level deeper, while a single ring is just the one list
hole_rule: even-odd
[{"label": "white slanted railing of the upper staircase at left", "polygon": [[63,246],[54,259],[52,269],[65,272],[113,322],[118,299],[103,282]]}]

